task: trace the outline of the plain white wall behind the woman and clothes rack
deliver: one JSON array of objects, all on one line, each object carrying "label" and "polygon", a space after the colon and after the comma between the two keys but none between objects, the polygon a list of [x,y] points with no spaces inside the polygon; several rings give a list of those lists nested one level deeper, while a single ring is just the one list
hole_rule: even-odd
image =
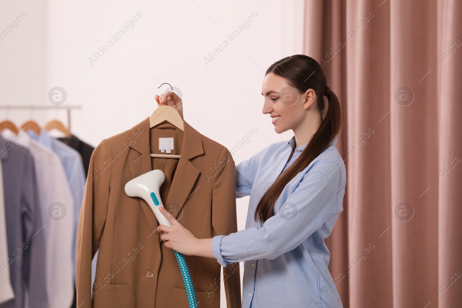
[{"label": "plain white wall behind the woman and clothes rack", "polygon": [[[96,146],[151,115],[153,96],[167,86],[156,88],[168,82],[182,91],[185,121],[228,149],[258,129],[234,155],[236,163],[292,137],[275,133],[261,113],[261,82],[272,63],[302,53],[302,0],[2,1],[0,31],[23,11],[27,18],[0,42],[3,106],[50,106],[49,89],[61,86],[63,106],[81,106],[71,113],[71,131]],[[137,12],[134,28],[116,42],[111,35]],[[258,16],[231,41],[227,35],[253,12]],[[91,65],[89,57],[109,40],[114,46]],[[204,58],[225,40],[229,46],[207,65]],[[8,117],[18,125],[37,115],[41,125],[67,121],[64,111],[42,111],[12,109]],[[0,119],[5,115],[1,109]],[[237,199],[239,229],[248,202]]]}]

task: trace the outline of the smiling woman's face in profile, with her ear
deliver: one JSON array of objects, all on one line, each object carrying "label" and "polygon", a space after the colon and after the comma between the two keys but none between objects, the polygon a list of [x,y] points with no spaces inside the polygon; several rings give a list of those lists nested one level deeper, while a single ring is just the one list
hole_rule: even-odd
[{"label": "smiling woman's face in profile, with her ear", "polygon": [[263,114],[270,114],[274,131],[282,133],[296,129],[307,116],[308,107],[314,102],[312,89],[298,94],[286,79],[270,72],[263,79],[261,94],[264,97]]}]

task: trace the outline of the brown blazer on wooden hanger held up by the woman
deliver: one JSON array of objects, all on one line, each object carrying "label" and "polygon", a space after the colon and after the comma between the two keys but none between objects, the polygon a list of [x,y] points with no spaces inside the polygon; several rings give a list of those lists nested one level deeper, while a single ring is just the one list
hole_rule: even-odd
[{"label": "brown blazer on wooden hanger held up by the woman", "polygon": [[[156,126],[150,132],[146,118],[103,139],[91,156],[77,235],[79,308],[188,307],[173,250],[155,231],[156,217],[145,200],[124,190],[129,180],[152,169],[150,153],[161,153],[158,137],[173,134],[172,154],[181,154],[165,208],[199,238],[237,232],[235,164],[228,149],[187,122],[184,133],[164,131]],[[91,260],[98,248],[91,287]],[[219,308],[221,266],[215,259],[185,257],[198,307]],[[227,307],[240,308],[239,264],[228,265],[223,279]]]}]

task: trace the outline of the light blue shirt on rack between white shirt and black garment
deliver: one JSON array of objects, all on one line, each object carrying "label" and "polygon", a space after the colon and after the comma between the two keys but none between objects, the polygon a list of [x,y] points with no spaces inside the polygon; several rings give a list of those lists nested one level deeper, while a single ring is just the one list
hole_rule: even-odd
[{"label": "light blue shirt on rack between white shirt and black garment", "polygon": [[74,232],[73,232],[73,275],[74,282],[76,281],[76,253],[77,253],[77,225],[79,223],[80,207],[82,206],[82,200],[84,198],[85,188],[85,169],[82,162],[82,157],[79,152],[66,145],[64,142],[59,141],[51,137],[45,129],[42,128],[40,135],[37,135],[34,131],[29,130],[27,132],[29,136],[36,140],[38,143],[45,145],[50,150],[54,151],[61,160],[61,163],[66,172],[67,181],[71,188],[71,193],[74,200]]}]

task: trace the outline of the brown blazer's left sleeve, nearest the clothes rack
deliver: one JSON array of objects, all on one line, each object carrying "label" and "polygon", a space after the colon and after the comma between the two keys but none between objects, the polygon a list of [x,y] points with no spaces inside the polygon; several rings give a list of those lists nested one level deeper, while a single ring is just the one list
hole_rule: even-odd
[{"label": "brown blazer's left sleeve, nearest the clothes rack", "polygon": [[93,151],[77,227],[77,307],[91,308],[91,260],[101,242],[109,204],[112,151],[103,139]]}]

